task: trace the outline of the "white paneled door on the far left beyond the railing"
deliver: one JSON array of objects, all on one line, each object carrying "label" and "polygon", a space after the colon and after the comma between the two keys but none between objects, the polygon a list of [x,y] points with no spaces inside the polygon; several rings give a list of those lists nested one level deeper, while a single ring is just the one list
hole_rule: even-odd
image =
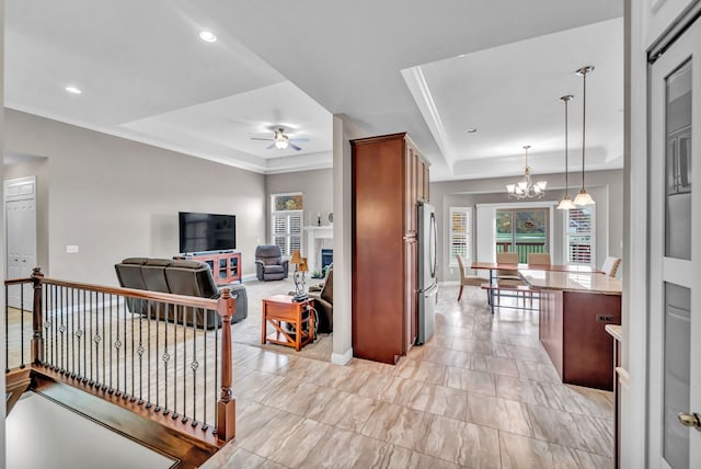
[{"label": "white paneled door on the far left beyond the railing", "polygon": [[[4,188],[7,278],[26,278],[36,266],[36,179],[9,180]],[[31,286],[8,289],[9,306],[31,310],[32,301]]]}]

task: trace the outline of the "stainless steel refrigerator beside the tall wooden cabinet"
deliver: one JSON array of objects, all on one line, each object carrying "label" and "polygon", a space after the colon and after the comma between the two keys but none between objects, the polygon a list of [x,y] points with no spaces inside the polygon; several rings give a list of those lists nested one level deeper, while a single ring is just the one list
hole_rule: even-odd
[{"label": "stainless steel refrigerator beside the tall wooden cabinet", "polygon": [[435,308],[438,293],[436,270],[436,213],[430,204],[418,203],[418,330],[416,345],[426,343],[435,329]]}]

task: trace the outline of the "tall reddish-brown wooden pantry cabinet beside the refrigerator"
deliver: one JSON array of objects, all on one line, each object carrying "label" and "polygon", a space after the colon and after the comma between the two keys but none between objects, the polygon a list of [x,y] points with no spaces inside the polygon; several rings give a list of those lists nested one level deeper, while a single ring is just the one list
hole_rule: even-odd
[{"label": "tall reddish-brown wooden pantry cabinet beside the refrigerator", "polygon": [[404,133],[350,146],[353,354],[394,364],[416,339],[416,221],[428,164]]}]

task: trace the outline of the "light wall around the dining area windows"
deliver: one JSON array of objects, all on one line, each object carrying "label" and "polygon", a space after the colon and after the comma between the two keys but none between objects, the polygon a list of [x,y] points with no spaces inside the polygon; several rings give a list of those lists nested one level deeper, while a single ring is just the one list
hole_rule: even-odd
[{"label": "light wall around the dining area windows", "polygon": [[[558,202],[564,193],[564,174],[548,174],[548,192],[538,202]],[[570,180],[572,181],[572,175]],[[478,204],[513,204],[506,194],[506,184],[512,183],[515,178],[498,178],[467,181],[448,181],[430,183],[430,203],[436,207],[436,221],[438,224],[438,253],[439,268],[438,281],[451,282],[459,279],[457,268],[450,268],[448,249],[449,237],[449,208],[474,207]],[[576,178],[575,178],[576,180]],[[576,184],[576,183],[575,183]],[[577,187],[570,187],[570,196],[574,198]],[[596,264],[600,265],[607,255],[623,258],[623,171],[593,171],[587,172],[587,191],[596,201]],[[528,204],[524,202],[522,204]],[[476,217],[473,210],[473,219]],[[560,210],[553,213],[553,234],[552,251],[553,260],[558,262],[563,252],[564,239],[561,229],[563,226]],[[476,227],[475,227],[476,228]],[[474,245],[473,238],[473,245]],[[478,255],[473,251],[473,259]],[[560,256],[560,258],[559,258]],[[623,260],[625,261],[625,260]]]}]

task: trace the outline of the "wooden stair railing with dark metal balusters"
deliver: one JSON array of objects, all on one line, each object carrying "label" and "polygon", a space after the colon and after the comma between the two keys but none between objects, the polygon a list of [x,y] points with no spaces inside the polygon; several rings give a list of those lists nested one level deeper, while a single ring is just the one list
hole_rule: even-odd
[{"label": "wooden stair railing with dark metal balusters", "polygon": [[[51,279],[35,268],[31,278],[5,281],[5,298],[8,288],[27,283],[34,289],[31,364],[24,363],[27,344],[20,311],[21,325],[15,329],[22,328],[22,338],[15,355],[21,355],[21,363],[12,369],[8,356],[5,364],[12,404],[30,388],[32,375],[39,374],[44,380],[61,381],[141,416],[150,415],[212,447],[235,436],[231,351],[235,298],[229,288],[218,299],[186,297]],[[130,305],[140,301],[145,309],[130,310],[129,300]],[[211,325],[207,314],[204,323],[197,323],[196,308],[216,311],[220,329],[207,330]],[[5,320],[9,311],[5,306]],[[182,323],[176,323],[177,311]],[[187,311],[192,311],[189,320]],[[5,333],[9,344],[10,330]],[[211,405],[207,405],[209,389]]]}]

